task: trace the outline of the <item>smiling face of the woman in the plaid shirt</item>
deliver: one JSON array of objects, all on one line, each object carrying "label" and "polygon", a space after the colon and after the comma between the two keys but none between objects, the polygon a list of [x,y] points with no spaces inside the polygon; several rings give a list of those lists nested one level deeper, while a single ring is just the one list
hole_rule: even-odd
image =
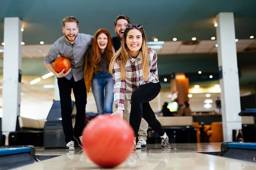
[{"label": "smiling face of the woman in the plaid shirt", "polygon": [[131,57],[137,57],[142,46],[143,37],[138,29],[131,29],[127,33],[125,44],[129,49]]}]

